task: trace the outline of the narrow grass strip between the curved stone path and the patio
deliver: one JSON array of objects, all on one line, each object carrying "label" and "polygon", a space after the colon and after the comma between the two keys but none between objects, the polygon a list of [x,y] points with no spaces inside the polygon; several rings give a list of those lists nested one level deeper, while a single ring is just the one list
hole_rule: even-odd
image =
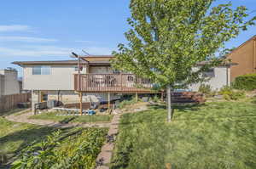
[{"label": "narrow grass strip between the curved stone path and the patio", "polygon": [[50,121],[63,121],[64,119],[75,117],[71,122],[109,122],[112,120],[113,115],[56,115],[54,112],[42,113],[39,115],[32,115],[31,119],[41,119]]}]

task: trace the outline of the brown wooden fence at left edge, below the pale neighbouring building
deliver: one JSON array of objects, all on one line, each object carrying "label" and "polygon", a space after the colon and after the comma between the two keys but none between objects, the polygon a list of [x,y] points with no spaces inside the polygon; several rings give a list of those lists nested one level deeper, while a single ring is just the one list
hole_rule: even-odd
[{"label": "brown wooden fence at left edge, below the pale neighbouring building", "polygon": [[19,103],[29,102],[30,99],[31,99],[31,93],[3,95],[0,98],[0,112],[14,109],[17,107]]}]

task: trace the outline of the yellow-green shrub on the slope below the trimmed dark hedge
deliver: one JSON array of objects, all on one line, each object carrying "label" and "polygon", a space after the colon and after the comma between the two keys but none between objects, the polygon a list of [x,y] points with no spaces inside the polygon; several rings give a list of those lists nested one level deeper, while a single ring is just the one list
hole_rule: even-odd
[{"label": "yellow-green shrub on the slope below the trimmed dark hedge", "polygon": [[219,91],[219,94],[224,96],[224,99],[227,100],[238,100],[238,99],[244,99],[246,97],[246,94],[244,91],[235,91],[232,87],[222,87]]}]

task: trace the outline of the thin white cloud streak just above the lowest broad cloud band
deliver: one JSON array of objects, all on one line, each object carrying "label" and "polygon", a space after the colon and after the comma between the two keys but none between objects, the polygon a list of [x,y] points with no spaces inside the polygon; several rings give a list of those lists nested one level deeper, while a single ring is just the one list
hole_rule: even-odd
[{"label": "thin white cloud streak just above the lowest broad cloud band", "polygon": [[57,42],[57,39],[41,37],[0,37],[0,42]]}]

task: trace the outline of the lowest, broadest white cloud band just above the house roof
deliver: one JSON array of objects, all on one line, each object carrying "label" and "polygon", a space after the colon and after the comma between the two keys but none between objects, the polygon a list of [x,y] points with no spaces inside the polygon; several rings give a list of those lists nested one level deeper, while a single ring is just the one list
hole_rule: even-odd
[{"label": "lowest, broadest white cloud band just above the house roof", "polygon": [[[111,54],[111,48],[98,48],[90,47],[86,48],[89,54]],[[44,57],[44,56],[67,56],[71,52],[77,54],[83,54],[81,49],[78,48],[61,48],[56,46],[19,46],[12,48],[0,47],[0,57],[6,56],[20,56],[20,57]],[[44,58],[42,59],[44,60]]]}]

